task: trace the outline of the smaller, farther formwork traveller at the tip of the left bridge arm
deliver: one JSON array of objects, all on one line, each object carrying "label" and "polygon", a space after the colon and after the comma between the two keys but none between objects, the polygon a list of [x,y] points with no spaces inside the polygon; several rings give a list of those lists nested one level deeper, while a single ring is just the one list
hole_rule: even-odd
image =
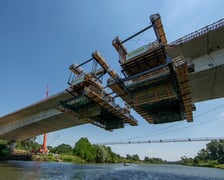
[{"label": "smaller, farther formwork traveller at the tip of the left bridge arm", "polygon": [[[86,73],[81,66],[90,62],[94,62],[94,68],[92,72]],[[100,65],[99,69],[97,65]],[[98,51],[95,51],[92,57],[82,64],[73,64],[69,69],[71,75],[67,92],[71,94],[71,98],[60,102],[58,110],[73,114],[79,119],[109,131],[123,128],[126,123],[132,126],[137,125],[130,111],[126,110],[127,107],[121,108],[116,104],[114,98],[103,87],[101,78],[106,73],[112,78],[116,78],[117,74],[109,69],[106,60]]]}]

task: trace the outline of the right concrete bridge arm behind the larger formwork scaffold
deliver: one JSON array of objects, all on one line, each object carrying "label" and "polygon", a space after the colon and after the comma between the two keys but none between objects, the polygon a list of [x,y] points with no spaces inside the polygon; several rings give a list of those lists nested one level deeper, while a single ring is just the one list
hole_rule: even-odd
[{"label": "right concrete bridge arm behind the larger formwork scaffold", "polygon": [[193,39],[169,45],[171,57],[191,58],[195,72],[190,73],[193,102],[224,97],[224,27]]}]

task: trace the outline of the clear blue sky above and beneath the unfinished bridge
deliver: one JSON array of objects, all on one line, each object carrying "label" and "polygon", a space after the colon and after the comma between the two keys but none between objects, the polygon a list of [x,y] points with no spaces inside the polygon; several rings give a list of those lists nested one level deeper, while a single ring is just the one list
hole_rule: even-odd
[{"label": "clear blue sky above and beneath the unfinished bridge", "polygon": [[[146,27],[149,16],[160,13],[169,42],[224,17],[222,0],[9,0],[0,1],[0,116],[67,88],[68,66],[81,63],[95,50],[111,68],[120,71],[111,45],[117,35],[125,39]],[[155,40],[144,34],[130,47]],[[49,145],[74,145],[80,137],[92,143],[117,140],[224,136],[224,100],[196,104],[194,122],[150,125],[134,113],[138,127],[107,132],[93,125],[48,134]],[[42,141],[42,136],[37,138]],[[114,145],[120,153],[177,160],[195,156],[205,142]]]}]

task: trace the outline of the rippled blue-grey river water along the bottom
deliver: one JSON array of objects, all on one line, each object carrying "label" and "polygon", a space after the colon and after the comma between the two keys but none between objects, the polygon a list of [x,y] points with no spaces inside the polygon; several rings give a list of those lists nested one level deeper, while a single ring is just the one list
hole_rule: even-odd
[{"label": "rippled blue-grey river water along the bottom", "polygon": [[181,165],[71,164],[34,161],[0,161],[0,179],[155,179],[224,180],[224,170]]}]

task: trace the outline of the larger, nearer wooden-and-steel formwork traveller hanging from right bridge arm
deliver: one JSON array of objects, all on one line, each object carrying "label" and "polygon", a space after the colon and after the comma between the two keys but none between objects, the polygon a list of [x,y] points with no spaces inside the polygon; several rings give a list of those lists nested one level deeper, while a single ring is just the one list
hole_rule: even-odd
[{"label": "larger, nearer wooden-and-steel formwork traveller hanging from right bridge arm", "polygon": [[[159,14],[150,16],[151,25],[112,44],[119,54],[124,78],[112,77],[108,86],[149,123],[193,121],[189,71],[192,63],[183,56],[167,56],[167,40]],[[124,43],[153,28],[156,41],[128,52]]]}]

